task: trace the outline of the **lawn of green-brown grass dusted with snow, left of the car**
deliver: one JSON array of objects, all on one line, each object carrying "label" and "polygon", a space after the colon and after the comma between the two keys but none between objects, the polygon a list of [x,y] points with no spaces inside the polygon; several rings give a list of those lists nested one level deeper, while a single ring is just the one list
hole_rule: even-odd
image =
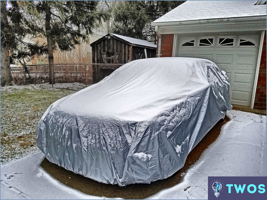
[{"label": "lawn of green-brown grass dusted with snow, left of the car", "polygon": [[1,87],[1,164],[37,150],[41,116],[51,103],[74,92],[40,85]]}]

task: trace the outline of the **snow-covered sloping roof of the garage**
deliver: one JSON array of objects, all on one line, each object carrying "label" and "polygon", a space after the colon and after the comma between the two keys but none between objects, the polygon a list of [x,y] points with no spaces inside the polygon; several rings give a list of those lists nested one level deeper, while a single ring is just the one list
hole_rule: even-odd
[{"label": "snow-covered sloping roof of the garage", "polygon": [[257,1],[186,1],[152,22],[182,22],[202,19],[266,16],[266,5]]}]

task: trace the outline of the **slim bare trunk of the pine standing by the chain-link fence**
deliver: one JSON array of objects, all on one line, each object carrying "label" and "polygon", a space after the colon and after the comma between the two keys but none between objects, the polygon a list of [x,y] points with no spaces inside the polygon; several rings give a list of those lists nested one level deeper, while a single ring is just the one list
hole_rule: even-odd
[{"label": "slim bare trunk of the pine standing by the chain-link fence", "polygon": [[48,49],[48,64],[49,64],[49,83],[55,83],[55,70],[54,70],[54,56],[53,56],[53,44],[51,35],[51,27],[50,27],[50,20],[51,20],[51,9],[48,6],[48,10],[45,14],[45,33],[47,39],[47,49]]}]

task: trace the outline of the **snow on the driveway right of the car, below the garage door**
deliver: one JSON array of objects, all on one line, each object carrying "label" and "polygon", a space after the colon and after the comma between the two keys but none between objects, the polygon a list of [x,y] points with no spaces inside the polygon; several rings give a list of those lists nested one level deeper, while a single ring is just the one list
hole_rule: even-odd
[{"label": "snow on the driveway right of the car, below the garage door", "polygon": [[238,110],[227,116],[219,137],[181,182],[149,199],[208,199],[208,176],[266,176],[266,116]]}]

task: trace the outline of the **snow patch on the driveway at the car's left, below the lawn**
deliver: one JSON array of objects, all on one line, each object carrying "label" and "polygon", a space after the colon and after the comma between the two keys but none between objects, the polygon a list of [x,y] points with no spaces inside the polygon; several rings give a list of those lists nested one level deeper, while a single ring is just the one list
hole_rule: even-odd
[{"label": "snow patch on the driveway at the car's left, below the lawn", "polygon": [[1,199],[103,199],[72,189],[50,176],[41,151],[1,165]]}]

